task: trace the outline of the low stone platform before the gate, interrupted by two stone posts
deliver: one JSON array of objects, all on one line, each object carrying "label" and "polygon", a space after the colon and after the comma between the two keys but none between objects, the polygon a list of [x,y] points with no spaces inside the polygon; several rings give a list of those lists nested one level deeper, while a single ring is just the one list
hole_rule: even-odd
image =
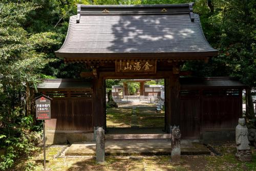
[{"label": "low stone platform before the gate, interrupted by two stone posts", "polygon": [[[65,156],[95,155],[95,142],[72,144]],[[105,154],[111,156],[140,156],[140,155],[169,155],[170,141],[168,140],[119,140],[106,141]],[[210,151],[197,140],[181,141],[182,155],[210,155]]]}]

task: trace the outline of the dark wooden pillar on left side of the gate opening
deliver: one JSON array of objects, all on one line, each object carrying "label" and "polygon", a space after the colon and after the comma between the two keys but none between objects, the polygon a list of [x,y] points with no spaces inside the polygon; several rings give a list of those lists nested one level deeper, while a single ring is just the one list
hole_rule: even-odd
[{"label": "dark wooden pillar on left side of the gate opening", "polygon": [[106,127],[105,121],[105,81],[102,77],[93,81],[93,120],[94,126]]}]

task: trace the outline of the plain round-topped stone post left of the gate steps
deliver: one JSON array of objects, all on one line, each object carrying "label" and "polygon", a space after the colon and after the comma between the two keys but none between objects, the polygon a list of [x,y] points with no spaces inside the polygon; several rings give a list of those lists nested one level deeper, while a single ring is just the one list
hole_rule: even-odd
[{"label": "plain round-topped stone post left of the gate steps", "polygon": [[105,131],[102,127],[96,129],[96,161],[102,163],[105,161]]}]

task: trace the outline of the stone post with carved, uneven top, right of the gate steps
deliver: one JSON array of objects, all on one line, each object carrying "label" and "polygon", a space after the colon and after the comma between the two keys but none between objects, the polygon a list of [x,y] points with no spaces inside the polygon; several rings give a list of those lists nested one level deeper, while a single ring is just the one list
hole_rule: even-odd
[{"label": "stone post with carved, uneven top, right of the gate steps", "polygon": [[180,129],[177,126],[171,127],[172,132],[172,162],[179,162],[180,161]]}]

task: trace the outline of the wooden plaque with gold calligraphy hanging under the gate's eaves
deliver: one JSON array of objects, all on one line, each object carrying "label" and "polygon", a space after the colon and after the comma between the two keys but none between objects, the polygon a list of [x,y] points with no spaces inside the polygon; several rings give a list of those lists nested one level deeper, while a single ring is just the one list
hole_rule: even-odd
[{"label": "wooden plaque with gold calligraphy hanging under the gate's eaves", "polygon": [[156,60],[116,60],[116,73],[156,73]]}]

